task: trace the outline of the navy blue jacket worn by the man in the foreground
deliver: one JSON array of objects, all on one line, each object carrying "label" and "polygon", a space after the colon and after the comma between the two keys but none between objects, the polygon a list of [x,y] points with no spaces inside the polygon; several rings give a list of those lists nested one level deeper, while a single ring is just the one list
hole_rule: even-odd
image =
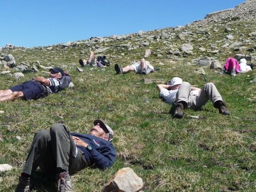
[{"label": "navy blue jacket worn by the man in the foreground", "polygon": [[89,161],[90,166],[104,169],[113,165],[116,159],[116,149],[111,142],[88,134],[71,133],[71,135],[92,146],[92,151],[89,152],[85,147],[77,145],[77,148],[84,153],[86,160]]}]

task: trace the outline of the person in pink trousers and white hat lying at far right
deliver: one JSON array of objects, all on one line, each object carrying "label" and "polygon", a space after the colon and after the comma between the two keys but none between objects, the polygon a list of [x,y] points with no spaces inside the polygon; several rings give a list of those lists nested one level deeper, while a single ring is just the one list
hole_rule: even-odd
[{"label": "person in pink trousers and white hat lying at far right", "polygon": [[247,61],[245,58],[240,59],[240,63],[232,58],[228,57],[224,67],[221,69],[220,74],[230,74],[231,76],[236,76],[238,73],[246,73],[248,71],[251,71],[251,66],[246,64]]}]

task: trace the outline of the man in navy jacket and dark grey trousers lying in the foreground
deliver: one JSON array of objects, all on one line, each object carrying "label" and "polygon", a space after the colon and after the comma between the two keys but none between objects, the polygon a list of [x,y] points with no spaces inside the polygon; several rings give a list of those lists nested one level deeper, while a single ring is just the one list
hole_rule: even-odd
[{"label": "man in navy jacket and dark grey trousers lying in the foreground", "polygon": [[99,169],[112,166],[116,158],[111,143],[113,130],[99,119],[93,123],[90,134],[70,133],[61,123],[53,124],[50,131],[36,132],[15,192],[32,189],[31,174],[38,166],[43,172],[55,174],[57,191],[61,192],[73,190],[70,174],[88,166]]}]

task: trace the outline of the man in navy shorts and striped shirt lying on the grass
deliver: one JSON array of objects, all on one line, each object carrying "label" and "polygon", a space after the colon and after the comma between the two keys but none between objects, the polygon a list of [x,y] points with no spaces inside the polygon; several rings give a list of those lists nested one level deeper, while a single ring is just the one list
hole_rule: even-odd
[{"label": "man in navy shorts and striped shirt lying on the grass", "polygon": [[61,68],[50,69],[50,78],[35,77],[8,90],[0,90],[0,101],[14,101],[18,98],[24,100],[38,99],[48,94],[57,93],[69,86],[71,78]]}]

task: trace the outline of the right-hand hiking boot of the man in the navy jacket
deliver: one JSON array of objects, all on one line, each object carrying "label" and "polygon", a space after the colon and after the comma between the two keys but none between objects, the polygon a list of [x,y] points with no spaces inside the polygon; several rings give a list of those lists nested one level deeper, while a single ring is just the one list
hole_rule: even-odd
[{"label": "right-hand hiking boot of the man in the navy jacket", "polygon": [[58,179],[58,192],[67,192],[73,191],[73,185],[71,182],[71,178],[69,172],[62,172],[57,175]]}]

